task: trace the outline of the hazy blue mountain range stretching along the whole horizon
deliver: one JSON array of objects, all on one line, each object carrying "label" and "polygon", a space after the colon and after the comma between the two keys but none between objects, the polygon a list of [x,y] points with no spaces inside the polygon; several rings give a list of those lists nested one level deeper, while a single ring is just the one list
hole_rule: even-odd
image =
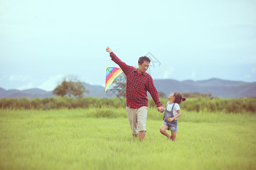
[{"label": "hazy blue mountain range stretching along the whole horizon", "polygon": [[[209,92],[214,97],[246,97],[252,96],[256,97],[256,82],[246,83],[240,81],[222,80],[222,79],[209,79],[209,80],[184,80],[177,81],[173,79],[155,79],[154,84],[156,90],[162,91],[164,94],[169,95],[170,92],[180,92],[181,94],[185,92],[199,92],[201,94],[208,94]],[[105,87],[94,86],[91,84],[84,83],[86,89],[89,90],[89,94],[84,94],[85,97],[112,97],[115,90],[108,90],[104,92]],[[9,97],[52,97],[52,91],[44,91],[39,88],[32,88],[28,90],[5,90],[0,87],[0,98]]]}]

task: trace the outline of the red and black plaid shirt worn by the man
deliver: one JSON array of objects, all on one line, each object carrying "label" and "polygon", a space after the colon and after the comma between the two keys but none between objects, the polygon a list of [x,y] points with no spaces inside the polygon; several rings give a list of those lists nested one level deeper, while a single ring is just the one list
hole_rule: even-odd
[{"label": "red and black plaid shirt worn by the man", "polygon": [[147,91],[150,92],[152,99],[157,107],[162,107],[158,98],[158,91],[153,83],[152,77],[148,73],[138,74],[138,69],[133,66],[126,65],[113,52],[110,53],[112,60],[117,63],[127,78],[126,83],[126,105],[130,108],[147,107]]}]

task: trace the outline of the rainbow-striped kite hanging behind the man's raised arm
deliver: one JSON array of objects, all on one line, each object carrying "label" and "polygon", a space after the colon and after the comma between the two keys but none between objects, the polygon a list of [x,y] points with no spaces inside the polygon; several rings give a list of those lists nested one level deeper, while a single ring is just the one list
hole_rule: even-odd
[{"label": "rainbow-striped kite hanging behind the man's raised arm", "polygon": [[[107,67],[106,68],[105,92],[106,92],[106,90],[108,90],[108,88],[114,88],[114,87],[110,87],[110,85],[114,82],[115,79],[118,79],[119,75],[123,75],[122,73],[123,73],[123,70],[118,69],[116,67]],[[122,89],[122,88],[116,87],[116,89]]]}]

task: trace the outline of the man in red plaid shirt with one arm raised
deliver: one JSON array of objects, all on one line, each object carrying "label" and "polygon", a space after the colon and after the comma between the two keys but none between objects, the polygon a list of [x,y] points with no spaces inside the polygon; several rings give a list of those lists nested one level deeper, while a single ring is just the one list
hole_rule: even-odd
[{"label": "man in red plaid shirt with one arm raised", "polygon": [[146,118],[147,118],[147,91],[150,92],[152,99],[155,101],[159,112],[164,112],[164,108],[159,101],[158,91],[153,83],[152,77],[146,73],[150,64],[150,58],[144,56],[139,58],[138,69],[126,65],[122,62],[112,50],[108,47],[112,60],[117,63],[123,73],[125,73],[126,82],[126,112],[131,126],[133,137],[138,137],[142,141],[146,135]]}]

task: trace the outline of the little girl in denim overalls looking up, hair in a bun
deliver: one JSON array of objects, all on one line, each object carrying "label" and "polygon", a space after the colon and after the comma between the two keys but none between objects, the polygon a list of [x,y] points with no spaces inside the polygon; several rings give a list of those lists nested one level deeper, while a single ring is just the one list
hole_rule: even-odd
[{"label": "little girl in denim overalls looking up, hair in a bun", "polygon": [[[160,133],[167,137],[167,140],[172,139],[172,141],[176,141],[176,134],[177,134],[177,118],[180,117],[180,106],[179,104],[182,101],[185,101],[185,98],[181,97],[181,94],[178,92],[174,92],[171,94],[168,99],[166,111],[164,112],[164,123],[160,127]],[[167,133],[166,130],[171,131],[171,135]]]}]

